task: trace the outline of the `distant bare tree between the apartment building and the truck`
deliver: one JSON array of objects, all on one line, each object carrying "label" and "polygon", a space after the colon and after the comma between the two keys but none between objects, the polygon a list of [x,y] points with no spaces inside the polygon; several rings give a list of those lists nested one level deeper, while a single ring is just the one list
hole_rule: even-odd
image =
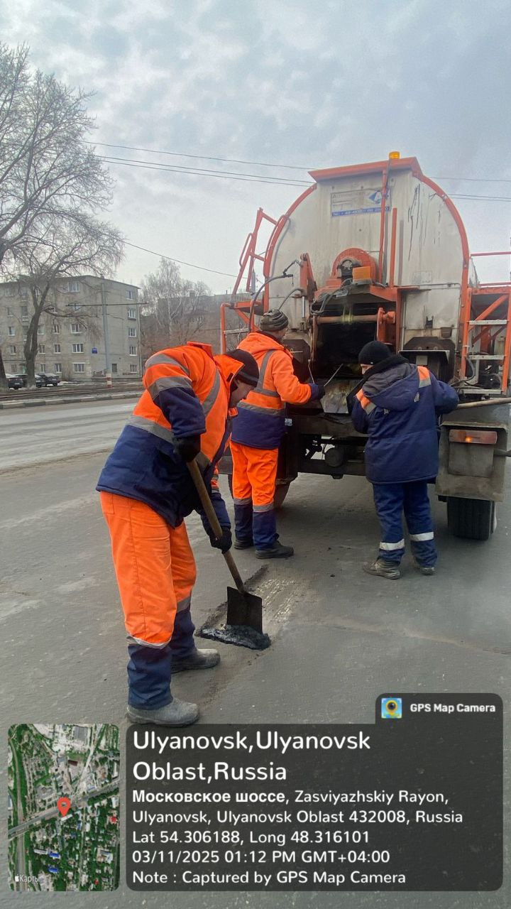
[{"label": "distant bare tree between the apartment building and the truck", "polygon": [[201,333],[211,315],[209,290],[202,281],[181,277],[174,262],[161,259],[141,284],[140,330],[146,353],[182,345]]}]

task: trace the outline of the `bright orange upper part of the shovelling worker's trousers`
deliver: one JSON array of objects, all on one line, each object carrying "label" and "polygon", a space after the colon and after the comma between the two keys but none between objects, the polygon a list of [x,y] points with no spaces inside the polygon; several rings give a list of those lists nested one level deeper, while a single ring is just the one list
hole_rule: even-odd
[{"label": "bright orange upper part of the shovelling worker's trousers", "polygon": [[[176,614],[189,609],[195,584],[185,524],[172,527],[149,505],[124,495],[100,496],[128,639],[163,648],[171,642]],[[189,651],[193,638],[186,644]]]}]

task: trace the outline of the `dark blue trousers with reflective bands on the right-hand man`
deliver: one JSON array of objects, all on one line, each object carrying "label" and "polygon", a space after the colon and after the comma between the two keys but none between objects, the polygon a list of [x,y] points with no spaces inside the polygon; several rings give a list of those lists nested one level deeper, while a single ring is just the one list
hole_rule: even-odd
[{"label": "dark blue trousers with reflective bands on the right-hand man", "polygon": [[376,514],[381,526],[378,557],[399,564],[405,554],[403,512],[410,534],[412,553],[418,564],[430,567],[436,563],[433,518],[427,495],[426,480],[412,483],[374,483]]}]

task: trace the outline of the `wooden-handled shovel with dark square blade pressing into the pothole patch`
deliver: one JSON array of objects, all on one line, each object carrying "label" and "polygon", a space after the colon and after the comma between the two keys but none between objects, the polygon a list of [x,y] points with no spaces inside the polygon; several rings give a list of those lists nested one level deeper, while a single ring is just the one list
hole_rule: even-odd
[{"label": "wooden-handled shovel with dark square blade pressing into the pothole patch", "polygon": [[[195,460],[188,464],[195,489],[205,510],[209,525],[217,540],[222,537],[222,527],[215,514],[215,508],[205,488],[205,482]],[[203,637],[213,637],[226,644],[237,644],[253,650],[264,650],[270,639],[263,633],[263,601],[260,596],[250,594],[237,570],[235,560],[229,552],[223,553],[225,562],[233,576],[236,587],[227,587],[227,621],[225,630],[201,629]]]}]

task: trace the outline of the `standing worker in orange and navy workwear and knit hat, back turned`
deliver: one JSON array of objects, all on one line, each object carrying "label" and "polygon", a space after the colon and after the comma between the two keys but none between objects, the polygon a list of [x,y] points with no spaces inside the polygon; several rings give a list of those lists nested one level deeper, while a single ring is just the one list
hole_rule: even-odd
[{"label": "standing worker in orange and navy workwear and knit hat, back turned", "polygon": [[259,331],[239,345],[252,354],[259,381],[237,408],[231,436],[235,548],[255,544],[259,559],[288,558],[293,546],[278,542],[274,497],[278,446],[285,433],[286,404],[319,400],[323,385],[301,383],[293,370],[293,355],[282,344],[289,325],[280,310],[268,310]]}]

